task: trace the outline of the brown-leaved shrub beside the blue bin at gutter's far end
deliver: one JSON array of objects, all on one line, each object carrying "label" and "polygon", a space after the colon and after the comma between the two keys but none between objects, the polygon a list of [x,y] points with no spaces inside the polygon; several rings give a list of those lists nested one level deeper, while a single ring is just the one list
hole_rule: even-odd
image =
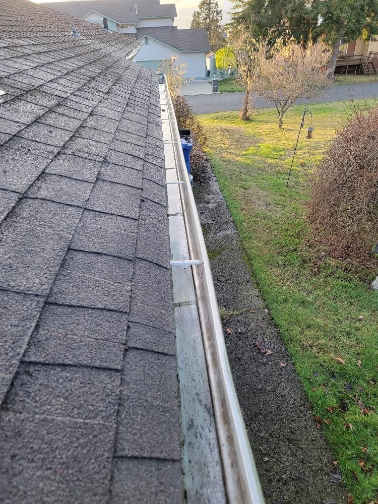
[{"label": "brown-leaved shrub beside the blue bin at gutter's far end", "polygon": [[180,130],[192,130],[193,149],[191,152],[191,163],[194,167],[199,166],[204,158],[204,147],[207,140],[204,129],[184,97],[175,96],[172,102],[178,128]]}]

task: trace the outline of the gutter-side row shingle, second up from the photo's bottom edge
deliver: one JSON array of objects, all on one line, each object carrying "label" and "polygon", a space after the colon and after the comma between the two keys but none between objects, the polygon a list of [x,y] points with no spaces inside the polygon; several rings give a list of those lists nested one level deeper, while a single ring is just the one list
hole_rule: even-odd
[{"label": "gutter-side row shingle, second up from the photo's bottom edge", "polygon": [[121,388],[116,455],[179,460],[175,357],[130,349]]}]

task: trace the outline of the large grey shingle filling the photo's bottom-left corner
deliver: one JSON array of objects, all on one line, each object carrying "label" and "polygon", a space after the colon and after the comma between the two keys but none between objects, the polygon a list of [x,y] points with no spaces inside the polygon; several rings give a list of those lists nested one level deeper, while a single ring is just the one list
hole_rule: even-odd
[{"label": "large grey shingle filling the photo's bottom-left corner", "polygon": [[3,412],[2,499],[103,504],[109,493],[113,436],[114,425]]}]

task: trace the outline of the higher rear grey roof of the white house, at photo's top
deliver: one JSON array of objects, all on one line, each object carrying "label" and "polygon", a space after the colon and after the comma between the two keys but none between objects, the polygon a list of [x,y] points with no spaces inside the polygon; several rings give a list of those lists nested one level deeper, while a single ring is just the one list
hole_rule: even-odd
[{"label": "higher rear grey roof of the white house, at photo's top", "polygon": [[[174,4],[160,5],[159,0],[83,0],[76,2],[50,2],[43,4],[66,14],[85,16],[99,12],[121,24],[137,24],[146,18],[175,18]],[[138,5],[138,14],[135,6]]]}]

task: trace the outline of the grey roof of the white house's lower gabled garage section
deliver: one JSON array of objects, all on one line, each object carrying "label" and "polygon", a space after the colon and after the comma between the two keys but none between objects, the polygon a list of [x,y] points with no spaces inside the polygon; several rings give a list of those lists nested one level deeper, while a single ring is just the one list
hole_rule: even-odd
[{"label": "grey roof of the white house's lower gabled garage section", "polygon": [[210,51],[209,39],[204,28],[179,30],[176,26],[138,28],[137,38],[149,35],[179,51]]}]

